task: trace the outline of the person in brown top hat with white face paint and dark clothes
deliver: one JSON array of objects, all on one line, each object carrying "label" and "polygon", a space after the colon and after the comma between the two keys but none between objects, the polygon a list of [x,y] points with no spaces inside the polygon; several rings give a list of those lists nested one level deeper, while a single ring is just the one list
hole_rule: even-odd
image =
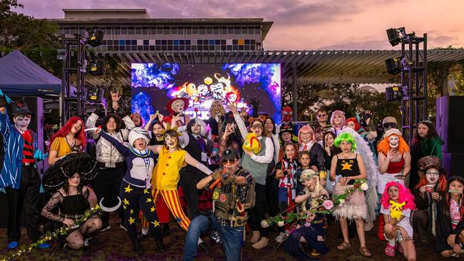
[{"label": "person in brown top hat with white face paint and dark clothes", "polygon": [[418,242],[428,246],[437,233],[438,202],[446,195],[446,170],[440,159],[425,156],[419,160],[420,177],[413,190],[417,210],[413,212],[413,228],[419,235]]}]

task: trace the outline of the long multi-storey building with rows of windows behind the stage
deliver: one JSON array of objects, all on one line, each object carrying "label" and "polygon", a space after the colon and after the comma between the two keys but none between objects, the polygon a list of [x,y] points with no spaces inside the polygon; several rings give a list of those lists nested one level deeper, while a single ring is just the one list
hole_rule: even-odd
[{"label": "long multi-storey building with rows of windows behind the stage", "polygon": [[263,19],[152,19],[146,9],[63,9],[50,19],[67,38],[104,32],[96,51],[261,51],[273,24]]}]

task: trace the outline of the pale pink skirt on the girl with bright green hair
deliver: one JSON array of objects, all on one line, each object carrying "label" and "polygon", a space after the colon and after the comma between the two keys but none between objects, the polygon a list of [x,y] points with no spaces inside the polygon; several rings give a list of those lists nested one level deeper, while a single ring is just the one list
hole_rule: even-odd
[{"label": "pale pink skirt on the girl with bright green hair", "polygon": [[[333,194],[341,195],[345,193],[347,188],[352,187],[353,185],[340,185],[340,183],[336,183]],[[368,205],[365,203],[364,193],[356,190],[343,204],[336,206],[335,210],[333,210],[333,215],[337,219],[342,217],[348,218],[348,220],[353,220],[354,218],[363,218],[365,220],[368,216]]]}]

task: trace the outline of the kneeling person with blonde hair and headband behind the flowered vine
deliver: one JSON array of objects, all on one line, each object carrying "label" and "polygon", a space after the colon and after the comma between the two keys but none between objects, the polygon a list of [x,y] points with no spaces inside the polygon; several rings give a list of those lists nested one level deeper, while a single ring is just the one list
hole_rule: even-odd
[{"label": "kneeling person with blonde hair and headband behind the flowered vine", "polygon": [[[303,170],[300,182],[303,184],[303,190],[295,198],[296,203],[302,203],[301,208],[304,213],[311,208],[319,205],[318,200],[327,200],[328,193],[319,183],[319,174],[311,169]],[[285,242],[285,250],[288,255],[298,257],[301,260],[315,260],[306,252],[303,252],[301,243],[308,244],[308,250],[312,255],[324,255],[329,249],[326,246],[327,224],[323,215],[317,214],[311,225],[300,224],[296,230],[293,230]]]}]

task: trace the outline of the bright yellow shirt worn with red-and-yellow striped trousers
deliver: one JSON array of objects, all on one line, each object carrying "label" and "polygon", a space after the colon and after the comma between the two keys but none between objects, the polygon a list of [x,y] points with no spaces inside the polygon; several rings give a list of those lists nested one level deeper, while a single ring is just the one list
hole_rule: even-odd
[{"label": "bright yellow shirt worn with red-and-yellow striped trousers", "polygon": [[163,146],[158,155],[158,163],[153,168],[151,185],[160,190],[177,190],[179,182],[179,170],[186,165],[186,150],[176,150],[169,153],[169,150]]}]

